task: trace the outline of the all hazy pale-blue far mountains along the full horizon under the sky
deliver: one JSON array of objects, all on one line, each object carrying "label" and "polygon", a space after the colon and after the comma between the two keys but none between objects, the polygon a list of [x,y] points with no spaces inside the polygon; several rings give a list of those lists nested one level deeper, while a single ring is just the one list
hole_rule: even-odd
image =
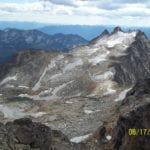
[{"label": "all hazy pale-blue far mountains along the full horizon under the sky", "polygon": [[[114,25],[58,25],[38,22],[17,22],[17,21],[0,21],[0,29],[16,28],[16,29],[38,29],[47,34],[77,34],[87,40],[91,40],[107,29],[109,32],[113,31]],[[148,37],[150,37],[150,27],[125,27],[124,31],[141,30]]]}]

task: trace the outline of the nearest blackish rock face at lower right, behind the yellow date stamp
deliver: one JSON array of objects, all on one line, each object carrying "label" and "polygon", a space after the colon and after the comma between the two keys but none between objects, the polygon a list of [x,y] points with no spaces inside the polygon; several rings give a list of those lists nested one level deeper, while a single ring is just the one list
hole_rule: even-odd
[{"label": "nearest blackish rock face at lower right, behind the yellow date stamp", "polygon": [[[150,103],[131,111],[128,116],[118,119],[114,130],[113,149],[115,150],[149,150]],[[137,129],[138,135],[129,136],[129,129]],[[147,129],[146,133],[144,130]],[[139,131],[138,131],[139,130]],[[142,133],[141,133],[142,132]],[[133,133],[135,134],[135,133]],[[142,134],[142,135],[141,135]],[[145,135],[144,135],[145,134]]]}]

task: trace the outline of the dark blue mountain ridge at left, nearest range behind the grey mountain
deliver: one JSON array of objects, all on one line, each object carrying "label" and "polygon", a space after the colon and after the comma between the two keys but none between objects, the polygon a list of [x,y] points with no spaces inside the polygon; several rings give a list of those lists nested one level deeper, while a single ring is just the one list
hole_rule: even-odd
[{"label": "dark blue mountain ridge at left, nearest range behind the grey mountain", "polygon": [[62,33],[48,35],[38,30],[0,30],[0,62],[10,57],[14,52],[23,49],[44,49],[48,51],[68,52],[76,46],[88,41],[79,35]]}]

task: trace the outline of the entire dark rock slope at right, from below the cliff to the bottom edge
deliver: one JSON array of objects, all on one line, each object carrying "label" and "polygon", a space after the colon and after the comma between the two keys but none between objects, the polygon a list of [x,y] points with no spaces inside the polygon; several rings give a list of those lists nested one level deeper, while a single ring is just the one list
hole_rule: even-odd
[{"label": "entire dark rock slope at right, from below the cliff to the bottom edge", "polygon": [[[150,79],[139,80],[120,106],[121,116],[114,129],[113,149],[149,150],[149,131],[129,136],[128,129],[150,128]],[[142,133],[141,133],[142,132]]]}]

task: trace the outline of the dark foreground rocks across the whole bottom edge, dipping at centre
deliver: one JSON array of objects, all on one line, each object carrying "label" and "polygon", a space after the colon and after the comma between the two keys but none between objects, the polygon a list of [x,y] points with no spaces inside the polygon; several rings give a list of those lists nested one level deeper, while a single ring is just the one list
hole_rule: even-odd
[{"label": "dark foreground rocks across the whole bottom edge, dipping at centre", "polygon": [[[110,138],[108,130],[111,130],[111,123],[108,122],[78,144],[70,142],[60,131],[51,130],[41,123],[28,118],[18,119],[0,124],[0,150],[149,150],[149,110],[150,103],[147,103],[120,115]],[[128,129],[148,130],[129,135]]]}]

